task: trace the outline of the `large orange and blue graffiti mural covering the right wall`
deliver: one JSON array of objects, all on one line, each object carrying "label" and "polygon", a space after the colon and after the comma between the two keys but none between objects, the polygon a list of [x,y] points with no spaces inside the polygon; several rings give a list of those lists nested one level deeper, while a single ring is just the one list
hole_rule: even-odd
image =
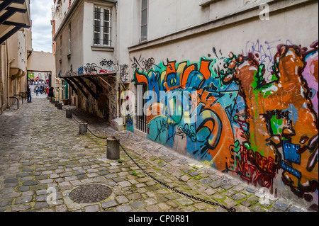
[{"label": "large orange and blue graffiti mural covering the right wall", "polygon": [[146,101],[150,140],[272,192],[281,179],[318,202],[318,41],[248,42],[239,55],[214,47],[195,63],[151,62],[133,65],[133,82],[157,94]]}]

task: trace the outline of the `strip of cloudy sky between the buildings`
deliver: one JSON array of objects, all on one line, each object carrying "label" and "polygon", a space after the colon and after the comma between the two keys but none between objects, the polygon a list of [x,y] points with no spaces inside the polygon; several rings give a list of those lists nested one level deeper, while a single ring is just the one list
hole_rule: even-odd
[{"label": "strip of cloudy sky between the buildings", "polygon": [[34,51],[52,52],[52,4],[53,0],[30,0]]}]

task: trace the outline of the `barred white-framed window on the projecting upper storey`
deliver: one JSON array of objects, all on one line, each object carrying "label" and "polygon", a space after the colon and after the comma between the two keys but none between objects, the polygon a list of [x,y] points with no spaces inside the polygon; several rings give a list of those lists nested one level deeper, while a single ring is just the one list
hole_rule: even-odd
[{"label": "barred white-framed window on the projecting upper storey", "polygon": [[94,7],[94,45],[111,45],[111,9]]}]

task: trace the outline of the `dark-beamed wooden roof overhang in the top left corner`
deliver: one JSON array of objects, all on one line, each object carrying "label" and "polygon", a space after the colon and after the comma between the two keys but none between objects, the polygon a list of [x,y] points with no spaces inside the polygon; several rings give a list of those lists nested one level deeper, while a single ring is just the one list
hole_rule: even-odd
[{"label": "dark-beamed wooden roof overhang in the top left corner", "polygon": [[0,44],[22,28],[30,28],[29,0],[0,0]]}]

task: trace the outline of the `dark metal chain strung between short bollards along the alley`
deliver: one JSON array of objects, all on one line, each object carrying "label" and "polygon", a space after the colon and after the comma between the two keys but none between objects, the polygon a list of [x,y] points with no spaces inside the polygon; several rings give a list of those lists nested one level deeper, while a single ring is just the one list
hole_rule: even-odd
[{"label": "dark metal chain strung between short bollards along the alley", "polygon": [[[63,110],[63,109],[62,109],[62,110]],[[73,114],[73,115],[74,115],[74,114]],[[81,122],[79,122],[78,120],[76,120],[74,117],[72,117],[72,119],[74,119],[77,123],[81,123]],[[93,132],[91,132],[91,130],[89,130],[89,128],[87,128],[87,130],[91,133],[91,135],[94,135],[94,137],[98,137],[98,138],[100,138],[100,139],[108,139],[108,137],[99,137],[99,136],[95,135]],[[113,138],[117,140],[116,137],[113,137]],[[189,195],[189,194],[186,194],[186,193],[184,193],[184,192],[182,192],[182,191],[177,190],[176,188],[172,188],[171,186],[167,185],[167,183],[163,183],[162,181],[159,181],[159,179],[157,179],[157,178],[155,178],[154,176],[152,176],[151,174],[147,173],[147,171],[145,171],[145,169],[142,169],[142,166],[140,166],[137,162],[135,162],[135,160],[134,160],[132,157],[130,157],[130,154],[128,154],[128,152],[127,152],[126,149],[121,145],[121,143],[120,143],[119,145],[120,145],[121,148],[123,149],[123,152],[125,152],[125,154],[130,158],[130,160],[132,160],[132,162],[134,162],[134,164],[135,164],[136,166],[138,166],[138,168],[139,168],[140,170],[142,170],[144,174],[146,174],[147,176],[150,176],[150,178],[152,178],[152,179],[153,179],[154,181],[156,181],[157,183],[162,184],[162,186],[164,186],[164,187],[166,187],[166,188],[168,188],[168,189],[170,189],[170,190],[172,190],[172,191],[174,191],[174,192],[176,192],[176,193],[179,193],[179,194],[181,194],[182,196],[186,196],[186,197],[188,197],[188,198],[191,198],[191,199],[194,199],[194,200],[198,200],[198,201],[203,202],[203,203],[208,203],[208,204],[210,204],[210,205],[217,205],[217,206],[219,206],[220,208],[223,208],[223,209],[227,210],[228,212],[236,212],[235,208],[233,208],[233,207],[232,207],[232,208],[227,208],[225,205],[221,205],[220,203],[215,203],[215,202],[213,202],[213,201],[209,201],[209,200],[205,200],[205,199],[202,199],[202,198],[197,198],[197,197],[195,197],[195,196],[191,196],[191,195]]]}]

